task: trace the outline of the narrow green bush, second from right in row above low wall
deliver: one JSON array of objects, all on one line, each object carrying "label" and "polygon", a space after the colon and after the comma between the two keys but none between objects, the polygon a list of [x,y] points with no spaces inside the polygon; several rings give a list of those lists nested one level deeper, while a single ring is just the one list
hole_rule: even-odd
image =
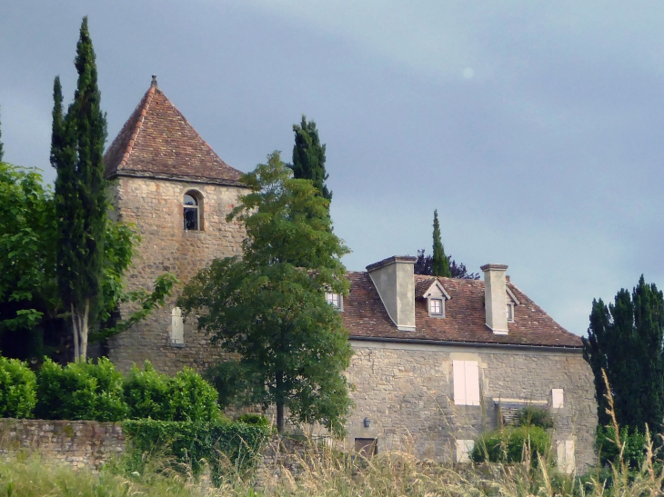
[{"label": "narrow green bush, second from right in row above low wall", "polygon": [[127,418],[169,421],[168,381],[168,376],[157,373],[149,361],[146,361],[143,371],[134,364],[125,380]]}]

